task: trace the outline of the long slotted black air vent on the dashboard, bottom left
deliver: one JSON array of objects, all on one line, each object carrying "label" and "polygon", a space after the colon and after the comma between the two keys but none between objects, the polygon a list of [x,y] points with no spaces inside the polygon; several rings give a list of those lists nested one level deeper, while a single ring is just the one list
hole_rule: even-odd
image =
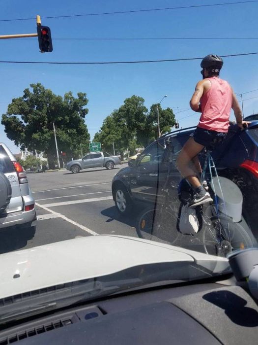
[{"label": "long slotted black air vent on the dashboard, bottom left", "polygon": [[16,334],[9,335],[4,339],[0,339],[0,345],[13,344],[19,342],[20,340],[27,339],[29,337],[33,337],[41,333],[49,332],[60,327],[71,325],[72,323],[73,322],[71,319],[58,320],[55,322],[49,322],[44,325],[37,326],[35,328],[29,328],[28,330],[24,330]]}]

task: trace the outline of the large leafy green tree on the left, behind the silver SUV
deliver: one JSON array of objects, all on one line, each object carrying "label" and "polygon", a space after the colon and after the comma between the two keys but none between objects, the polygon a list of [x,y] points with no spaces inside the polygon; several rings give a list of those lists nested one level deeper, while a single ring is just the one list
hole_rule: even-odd
[{"label": "large leafy green tree on the left, behind the silver SUV", "polygon": [[53,169],[57,158],[53,122],[59,151],[66,152],[67,156],[80,152],[80,143],[89,144],[85,124],[87,103],[86,93],[79,92],[75,98],[68,92],[61,97],[40,83],[30,84],[30,89],[25,89],[22,97],[13,99],[8,105],[1,123],[7,137],[17,146],[45,152]]}]

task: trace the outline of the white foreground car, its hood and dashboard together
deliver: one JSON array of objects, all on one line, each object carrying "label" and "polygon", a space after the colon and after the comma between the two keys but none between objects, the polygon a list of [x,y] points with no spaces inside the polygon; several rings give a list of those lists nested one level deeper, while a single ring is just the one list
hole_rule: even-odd
[{"label": "white foreground car, its hood and dashboard together", "polygon": [[1,254],[0,267],[2,345],[257,343],[258,306],[227,258],[99,235]]}]

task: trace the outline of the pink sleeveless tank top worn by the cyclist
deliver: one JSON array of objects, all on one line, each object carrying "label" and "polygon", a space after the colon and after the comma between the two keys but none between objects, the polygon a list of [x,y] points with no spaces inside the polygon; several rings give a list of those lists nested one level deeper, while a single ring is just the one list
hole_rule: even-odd
[{"label": "pink sleeveless tank top worn by the cyclist", "polygon": [[198,127],[210,131],[227,133],[232,105],[232,89],[226,80],[207,78],[211,88],[201,97],[202,114]]}]

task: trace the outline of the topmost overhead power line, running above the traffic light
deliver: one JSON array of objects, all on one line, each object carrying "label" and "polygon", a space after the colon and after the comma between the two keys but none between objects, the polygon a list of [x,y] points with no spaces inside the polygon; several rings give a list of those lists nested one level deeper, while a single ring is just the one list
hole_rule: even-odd
[{"label": "topmost overhead power line, running above the traffic light", "polygon": [[[70,14],[63,16],[48,16],[41,17],[41,19],[54,19],[54,18],[73,18],[73,17],[86,17],[86,16],[102,16],[109,14],[125,14],[125,13],[141,13],[141,12],[154,12],[154,11],[167,11],[175,9],[185,9],[185,8],[198,8],[198,7],[214,7],[214,6],[225,6],[225,5],[235,5],[235,4],[244,4],[250,2],[258,2],[258,0],[250,1],[234,1],[234,2],[221,2],[221,3],[211,3],[211,4],[201,4],[201,5],[189,5],[189,6],[175,6],[175,7],[165,7],[165,8],[145,8],[137,9],[131,11],[115,11],[115,12],[101,12],[101,13],[84,13],[84,14]],[[11,21],[21,21],[21,20],[35,20],[35,18],[17,18],[17,19],[0,19],[0,22],[11,22]]]}]

